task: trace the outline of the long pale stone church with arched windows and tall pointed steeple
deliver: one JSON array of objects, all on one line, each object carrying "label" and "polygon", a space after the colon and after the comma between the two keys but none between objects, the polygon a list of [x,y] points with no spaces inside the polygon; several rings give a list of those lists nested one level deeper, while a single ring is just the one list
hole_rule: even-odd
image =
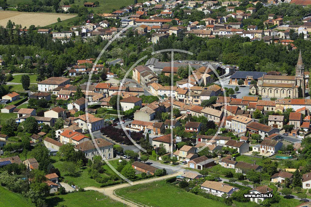
[{"label": "long pale stone church with arched windows and tall pointed steeple", "polygon": [[[296,65],[295,76],[263,75],[258,78],[258,94],[262,97],[299,98],[305,94],[304,64],[301,51]],[[300,91],[300,93],[299,93]]]}]

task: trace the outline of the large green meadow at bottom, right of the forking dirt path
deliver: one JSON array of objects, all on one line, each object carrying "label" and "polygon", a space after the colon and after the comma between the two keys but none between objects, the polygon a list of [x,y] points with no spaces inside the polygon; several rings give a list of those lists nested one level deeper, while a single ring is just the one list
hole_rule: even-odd
[{"label": "large green meadow at bottom, right of the forking dirt path", "polygon": [[[119,196],[126,196],[129,200],[135,200],[147,206],[161,207],[190,207],[190,206],[226,206],[223,202],[209,200],[202,196],[186,192],[183,189],[174,187],[165,181],[151,182],[121,188],[115,191]],[[255,207],[254,203],[234,202],[239,207]]]}]

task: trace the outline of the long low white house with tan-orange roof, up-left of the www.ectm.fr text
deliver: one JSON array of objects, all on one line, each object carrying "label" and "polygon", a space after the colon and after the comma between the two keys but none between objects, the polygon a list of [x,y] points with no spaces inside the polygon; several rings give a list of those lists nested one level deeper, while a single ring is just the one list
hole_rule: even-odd
[{"label": "long low white house with tan-orange roof, up-left of the www.ectm.fr text", "polygon": [[228,196],[230,196],[234,191],[239,190],[239,188],[237,187],[232,187],[222,182],[208,180],[201,184],[201,189],[205,190],[207,193],[211,193],[219,197],[221,197],[223,194],[227,194]]}]

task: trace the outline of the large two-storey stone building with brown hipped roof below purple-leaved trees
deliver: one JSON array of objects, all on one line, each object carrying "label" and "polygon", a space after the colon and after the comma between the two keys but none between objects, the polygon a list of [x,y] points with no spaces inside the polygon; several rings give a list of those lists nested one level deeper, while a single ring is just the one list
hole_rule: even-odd
[{"label": "large two-storey stone building with brown hipped roof below purple-leaved trees", "polygon": [[102,138],[97,138],[95,141],[89,140],[82,142],[75,148],[82,151],[85,154],[85,157],[90,160],[93,160],[95,155],[100,155],[104,159],[112,159],[114,157],[113,144]]}]

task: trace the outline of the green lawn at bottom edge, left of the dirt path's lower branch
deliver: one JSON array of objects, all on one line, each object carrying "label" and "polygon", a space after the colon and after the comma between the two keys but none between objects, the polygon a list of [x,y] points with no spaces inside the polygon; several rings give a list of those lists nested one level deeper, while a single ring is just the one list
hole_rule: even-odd
[{"label": "green lawn at bottom edge, left of the dirt path's lower branch", "polygon": [[114,201],[98,191],[75,192],[52,196],[46,199],[46,203],[49,207],[55,207],[58,204],[63,204],[67,207],[123,207],[123,203]]}]

